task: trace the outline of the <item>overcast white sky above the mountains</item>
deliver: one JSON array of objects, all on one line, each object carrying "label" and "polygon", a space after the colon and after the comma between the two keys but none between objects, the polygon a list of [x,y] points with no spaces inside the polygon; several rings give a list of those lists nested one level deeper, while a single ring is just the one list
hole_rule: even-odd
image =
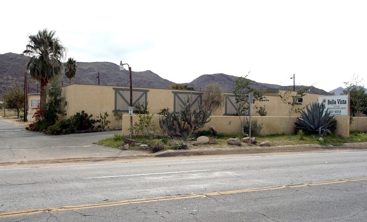
[{"label": "overcast white sky above the mountains", "polygon": [[122,60],[175,83],[203,74],[345,87],[367,78],[367,1],[3,1],[0,54],[55,30],[79,62]]}]

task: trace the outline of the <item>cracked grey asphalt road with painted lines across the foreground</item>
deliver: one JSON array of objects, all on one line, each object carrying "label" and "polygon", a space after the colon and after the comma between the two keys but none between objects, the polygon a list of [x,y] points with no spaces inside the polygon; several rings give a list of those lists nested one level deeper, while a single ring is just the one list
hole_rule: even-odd
[{"label": "cracked grey asphalt road with painted lines across the foreground", "polygon": [[366,221],[366,169],[366,150],[6,169],[0,221]]}]

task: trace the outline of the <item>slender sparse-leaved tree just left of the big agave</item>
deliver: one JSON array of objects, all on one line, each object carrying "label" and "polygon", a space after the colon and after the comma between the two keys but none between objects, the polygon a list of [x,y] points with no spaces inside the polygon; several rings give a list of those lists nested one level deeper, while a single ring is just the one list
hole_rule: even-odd
[{"label": "slender sparse-leaved tree just left of the big agave", "polygon": [[288,134],[288,126],[289,123],[291,121],[291,116],[295,113],[301,113],[301,111],[305,108],[296,108],[295,105],[298,105],[298,98],[302,98],[304,97],[306,94],[305,92],[309,89],[310,87],[308,86],[304,86],[302,88],[300,88],[299,90],[297,90],[296,95],[293,95],[291,90],[287,90],[284,92],[284,94],[281,94],[279,92],[279,97],[280,97],[280,101],[282,101],[284,103],[284,105],[286,105],[287,109],[288,109],[288,113],[289,113],[289,119],[288,119],[288,123],[287,123],[287,128],[286,128],[286,133]]}]

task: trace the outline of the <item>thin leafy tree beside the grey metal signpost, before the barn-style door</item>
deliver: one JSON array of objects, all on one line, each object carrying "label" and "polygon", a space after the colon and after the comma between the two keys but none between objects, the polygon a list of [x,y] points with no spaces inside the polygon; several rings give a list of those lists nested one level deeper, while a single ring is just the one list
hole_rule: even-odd
[{"label": "thin leafy tree beside the grey metal signpost, before the barn-style door", "polygon": [[[243,127],[245,124],[246,113],[248,112],[248,102],[249,102],[248,93],[249,92],[253,93],[253,100],[251,101],[251,103],[255,103],[256,101],[258,102],[269,101],[261,93],[262,89],[257,90],[253,87],[255,83],[251,83],[250,81],[248,81],[246,79],[247,76],[248,74],[245,77],[239,77],[238,79],[236,79],[235,86],[233,87],[233,94],[235,94],[236,96],[236,109],[237,109],[236,116],[238,116],[241,121],[241,128],[243,135],[245,134]],[[255,105],[255,108],[256,107],[257,106]],[[264,112],[265,112],[265,106],[264,106]]]}]

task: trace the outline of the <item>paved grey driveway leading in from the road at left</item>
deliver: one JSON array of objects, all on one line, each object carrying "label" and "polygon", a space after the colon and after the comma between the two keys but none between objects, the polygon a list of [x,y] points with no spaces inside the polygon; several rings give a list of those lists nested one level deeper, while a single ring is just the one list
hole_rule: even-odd
[{"label": "paved grey driveway leading in from the road at left", "polygon": [[0,163],[140,154],[93,144],[116,132],[51,136],[0,120]]}]

